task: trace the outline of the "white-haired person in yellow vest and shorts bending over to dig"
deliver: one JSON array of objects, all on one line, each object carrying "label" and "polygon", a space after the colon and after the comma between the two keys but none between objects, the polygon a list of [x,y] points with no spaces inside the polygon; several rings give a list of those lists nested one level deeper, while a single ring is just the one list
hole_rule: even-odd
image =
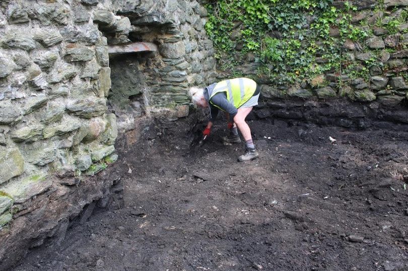
[{"label": "white-haired person in yellow vest and shorts bending over to dig", "polygon": [[[193,104],[210,107],[210,121],[203,136],[210,135],[211,127],[219,110],[226,113],[230,134],[224,140],[229,143],[239,143],[241,139],[238,130],[245,140],[245,153],[238,157],[239,161],[253,160],[259,156],[252,141],[251,130],[245,122],[246,116],[258,104],[260,88],[249,78],[234,78],[213,83],[205,88],[191,87],[189,95]],[[238,128],[238,130],[237,130]]]}]

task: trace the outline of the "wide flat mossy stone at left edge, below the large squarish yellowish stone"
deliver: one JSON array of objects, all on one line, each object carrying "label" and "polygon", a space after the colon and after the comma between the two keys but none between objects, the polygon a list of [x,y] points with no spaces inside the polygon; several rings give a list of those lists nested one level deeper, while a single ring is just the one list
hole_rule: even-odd
[{"label": "wide flat mossy stone at left edge, below the large squarish yellowish stone", "polygon": [[35,174],[18,182],[10,182],[2,190],[13,197],[14,203],[23,203],[47,191],[51,185],[52,179],[43,174]]}]

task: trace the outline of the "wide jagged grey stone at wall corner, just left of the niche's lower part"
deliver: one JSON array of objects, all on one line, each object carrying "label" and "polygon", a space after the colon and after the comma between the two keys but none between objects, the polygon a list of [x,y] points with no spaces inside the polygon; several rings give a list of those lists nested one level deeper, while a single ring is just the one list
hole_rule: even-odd
[{"label": "wide jagged grey stone at wall corner, just left of the niche's lower part", "polygon": [[66,106],[66,109],[74,115],[81,118],[90,119],[92,117],[98,117],[103,115],[106,110],[106,100],[99,98],[90,98],[81,101],[75,101],[72,104]]}]

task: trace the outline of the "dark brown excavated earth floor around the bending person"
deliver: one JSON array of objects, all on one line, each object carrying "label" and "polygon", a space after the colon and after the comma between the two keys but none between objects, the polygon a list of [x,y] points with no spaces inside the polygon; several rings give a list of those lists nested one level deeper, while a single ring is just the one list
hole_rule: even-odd
[{"label": "dark brown excavated earth floor around the bending person", "polygon": [[408,270],[408,133],[250,121],[239,163],[226,124],[190,148],[190,122],[121,153],[123,208],[15,270]]}]

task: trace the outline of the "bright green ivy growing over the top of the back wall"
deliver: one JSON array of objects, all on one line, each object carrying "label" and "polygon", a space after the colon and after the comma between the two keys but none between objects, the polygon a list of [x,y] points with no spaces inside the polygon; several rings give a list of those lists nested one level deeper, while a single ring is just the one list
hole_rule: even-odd
[{"label": "bright green ivy growing over the top of the back wall", "polygon": [[345,58],[342,43],[362,43],[370,34],[351,24],[357,8],[349,2],[338,9],[332,0],[218,0],[207,9],[206,30],[221,69],[233,72],[252,54],[258,73],[278,84],[339,72]]}]

